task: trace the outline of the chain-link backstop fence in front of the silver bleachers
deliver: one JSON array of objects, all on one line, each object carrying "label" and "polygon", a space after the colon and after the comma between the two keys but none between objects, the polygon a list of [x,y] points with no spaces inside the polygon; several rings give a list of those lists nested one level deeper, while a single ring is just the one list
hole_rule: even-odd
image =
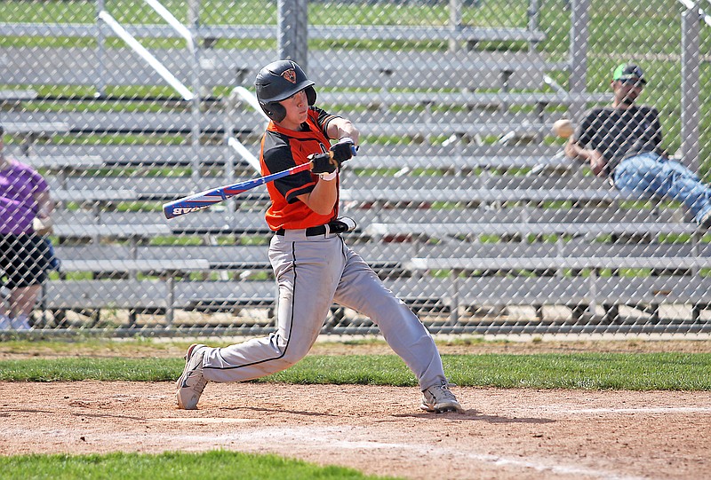
[{"label": "chain-link backstop fence in front of the silver bleachers", "polygon": [[[170,221],[161,207],[260,175],[253,80],[288,57],[316,82],[317,105],[361,131],[340,177],[341,211],[358,224],[348,244],[431,332],[708,333],[711,244],[688,205],[616,189],[566,157],[551,130],[611,106],[613,70],[634,62],[663,148],[708,179],[703,9],[711,3],[8,0],[4,157],[46,185],[27,171],[0,178],[0,327],[271,331],[266,189]],[[53,253],[25,235],[34,216],[49,223],[45,188],[52,228],[35,227]],[[324,323],[377,331],[335,304]]]}]

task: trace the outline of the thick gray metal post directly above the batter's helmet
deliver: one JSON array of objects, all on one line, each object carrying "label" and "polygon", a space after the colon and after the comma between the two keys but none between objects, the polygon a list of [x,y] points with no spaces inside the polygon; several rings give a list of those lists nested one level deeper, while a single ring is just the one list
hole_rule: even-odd
[{"label": "thick gray metal post directly above the batter's helmet", "polygon": [[279,59],[291,59],[308,73],[308,2],[278,0],[276,47]]}]

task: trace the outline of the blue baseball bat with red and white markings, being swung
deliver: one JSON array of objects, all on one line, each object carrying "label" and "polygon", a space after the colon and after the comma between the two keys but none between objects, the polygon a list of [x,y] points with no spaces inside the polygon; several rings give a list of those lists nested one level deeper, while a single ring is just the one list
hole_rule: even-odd
[{"label": "blue baseball bat with red and white markings, being swung", "polygon": [[[352,147],[354,153],[356,152],[356,147]],[[327,152],[331,161],[333,161],[333,152]],[[308,161],[307,163],[302,163],[291,169],[285,169],[264,177],[252,178],[252,180],[246,180],[240,182],[239,184],[222,185],[216,188],[211,188],[209,190],[204,190],[200,193],[194,193],[188,195],[187,197],[182,197],[178,200],[169,201],[163,205],[163,213],[165,218],[171,219],[176,216],[186,215],[188,213],[197,212],[200,210],[207,209],[215,203],[220,203],[220,201],[226,201],[235,195],[252,190],[252,188],[269,182],[273,182],[278,178],[288,177],[296,173],[310,170],[314,168],[314,161]]]}]

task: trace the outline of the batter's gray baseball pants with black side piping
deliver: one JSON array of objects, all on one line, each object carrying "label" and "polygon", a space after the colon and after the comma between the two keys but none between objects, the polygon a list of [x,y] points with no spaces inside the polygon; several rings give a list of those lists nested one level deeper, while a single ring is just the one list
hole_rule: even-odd
[{"label": "batter's gray baseball pants with black side piping", "polygon": [[432,336],[340,235],[307,237],[304,230],[275,235],[269,261],[279,287],[276,332],[207,350],[204,377],[243,382],[274,374],[304,358],[316,342],[332,302],[368,316],[425,390],[445,380]]}]

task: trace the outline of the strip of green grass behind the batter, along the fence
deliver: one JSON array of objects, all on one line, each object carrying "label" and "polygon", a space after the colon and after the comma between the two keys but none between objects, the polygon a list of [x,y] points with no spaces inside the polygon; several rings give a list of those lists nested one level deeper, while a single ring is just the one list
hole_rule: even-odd
[{"label": "strip of green grass behind the batter, along the fence", "polygon": [[[709,353],[540,353],[443,355],[460,386],[576,390],[711,390]],[[181,358],[30,358],[0,361],[0,381],[167,382]],[[309,355],[257,382],[415,386],[395,355]]]}]

